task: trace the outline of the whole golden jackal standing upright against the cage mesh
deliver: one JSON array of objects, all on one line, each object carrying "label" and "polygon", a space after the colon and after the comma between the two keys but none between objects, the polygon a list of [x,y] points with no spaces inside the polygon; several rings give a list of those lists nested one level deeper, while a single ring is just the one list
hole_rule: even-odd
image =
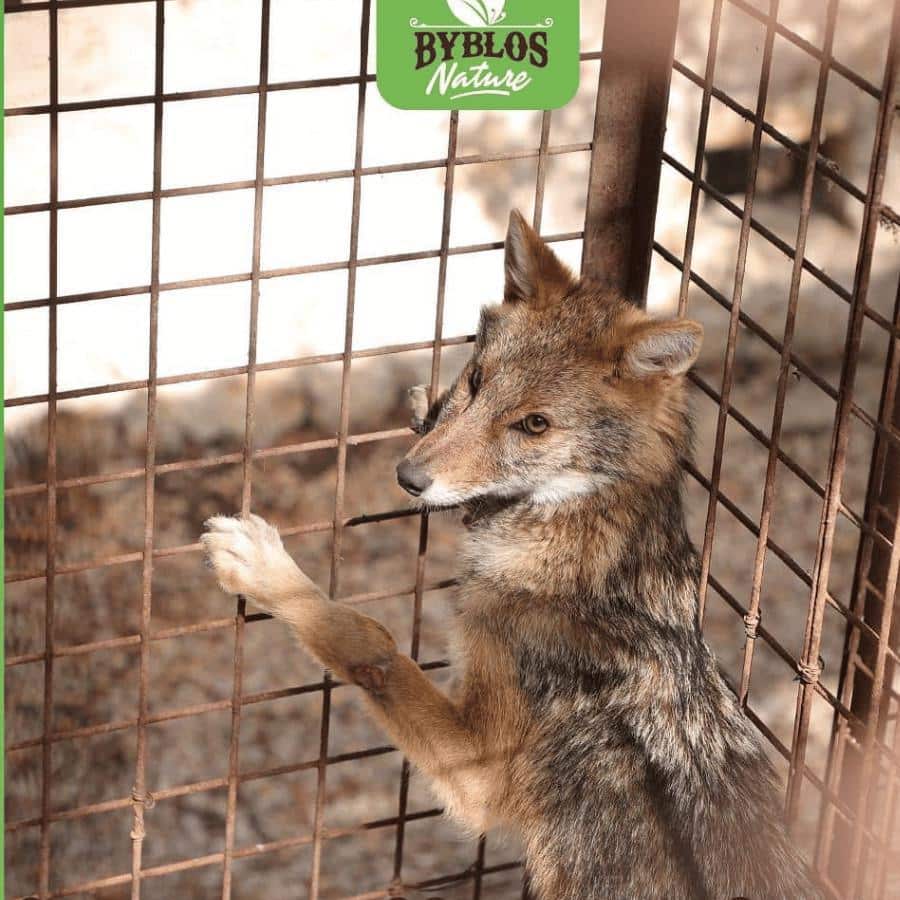
[{"label": "whole golden jackal standing upright against the cage mesh", "polygon": [[400,484],[468,528],[444,696],[329,602],[262,519],[203,535],[476,833],[517,829],[542,900],[811,900],[773,774],[703,642],[682,512],[702,329],[578,282],[514,213],[506,291]]}]

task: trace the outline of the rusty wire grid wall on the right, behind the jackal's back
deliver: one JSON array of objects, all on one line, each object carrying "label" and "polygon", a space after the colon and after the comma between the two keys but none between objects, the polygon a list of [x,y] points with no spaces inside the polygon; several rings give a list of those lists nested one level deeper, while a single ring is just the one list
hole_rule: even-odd
[{"label": "rusty wire grid wall on the right, behind the jackal's back", "polygon": [[[744,107],[714,85],[721,16],[726,2],[753,17],[766,28],[759,96],[755,110]],[[889,737],[887,729],[889,720],[897,720],[900,702],[900,694],[892,685],[892,673],[898,661],[897,617],[892,617],[892,613],[896,607],[897,575],[900,568],[898,559],[900,550],[897,544],[897,523],[900,515],[896,490],[900,473],[896,464],[900,430],[895,416],[898,378],[897,341],[900,339],[897,326],[900,319],[898,309],[895,309],[892,318],[887,318],[866,303],[877,229],[881,223],[894,225],[898,221],[896,211],[890,208],[883,196],[891,127],[897,114],[897,80],[900,66],[900,4],[895,2],[892,7],[884,78],[881,86],[876,86],[840,64],[832,56],[839,0],[827,2],[823,0],[822,14],[825,28],[821,47],[813,46],[778,21],[777,0],[770,0],[768,12],[763,12],[759,6],[745,0],[714,0],[705,72],[701,75],[678,60],[674,62],[674,71],[703,91],[693,167],[690,168],[668,153],[662,154],[662,164],[669,166],[691,185],[685,248],[683,255],[679,257],[659,242],[654,245],[658,256],[681,272],[680,314],[689,311],[688,293],[692,287],[699,289],[705,298],[712,300],[729,314],[721,390],[716,390],[698,373],[691,375],[696,387],[719,407],[710,477],[703,475],[693,465],[687,467],[690,475],[708,491],[710,497],[701,556],[701,600],[702,603],[705,602],[707,592],[712,588],[743,619],[746,631],[744,660],[739,682],[733,685],[734,690],[750,718],[774,749],[788,762],[786,810],[789,821],[793,822],[796,819],[804,787],[811,787],[819,793],[822,800],[822,816],[814,860],[815,870],[830,897],[846,900],[887,896],[885,871],[888,856],[892,852],[890,840],[892,828],[897,820],[898,782],[900,782],[897,728],[894,728],[893,738]],[[810,142],[806,148],[799,147],[766,121],[768,73],[771,66],[772,41],[776,35],[804,50],[819,63]],[[829,75],[832,72],[841,74],[878,101],[878,124],[872,149],[869,183],[865,189],[852,184],[820,153],[825,96]],[[704,179],[707,128],[710,101],[713,98],[753,126],[750,177],[742,205],[721,194]],[[800,217],[793,244],[776,236],[753,215],[756,170],[762,135],[774,140],[796,159],[803,161]],[[830,182],[863,207],[864,219],[857,254],[856,275],[853,287],[849,291],[805,258],[813,187],[817,178]],[[715,202],[740,219],[735,280],[730,296],[716,290],[692,269],[696,223],[701,200]],[[771,334],[741,309],[746,251],[751,231],[776,247],[792,262],[791,283],[785,306],[785,326],[781,337]],[[843,368],[837,385],[828,382],[792,350],[800,280],[804,274],[812,276],[849,307]],[[889,346],[877,416],[871,416],[862,410],[853,396],[862,325],[865,320],[878,326]],[[755,426],[740,410],[734,408],[730,401],[734,351],[741,328],[761,339],[781,357],[773,418],[768,432]],[[799,372],[808,378],[826,397],[836,403],[828,476],[824,484],[812,477],[780,447],[786,387],[793,372]],[[875,440],[868,500],[862,515],[849,508],[842,498],[851,417],[871,429]],[[768,451],[762,509],[756,519],[747,515],[737,503],[722,492],[720,487],[725,425],[729,419]],[[818,551],[810,571],[798,565],[769,535],[775,479],[779,465],[785,466],[800,478],[822,501]],[[728,510],[756,538],[754,574],[746,603],[733,596],[711,572],[716,513],[719,506]],[[857,572],[849,606],[834,597],[828,588],[835,528],[839,516],[851,522],[859,535]],[[791,654],[761,624],[761,585],[768,554],[778,557],[809,590],[805,637],[799,657]],[[840,686],[836,695],[820,681],[819,647],[823,617],[826,607],[829,606],[842,616],[846,623],[846,647]],[[759,640],[764,641],[797,673],[799,682],[797,707],[793,739],[789,746],[780,742],[766,728],[749,702],[754,649]],[[806,766],[813,697],[824,699],[834,711],[834,737],[824,781],[813,775]],[[849,758],[845,756],[848,744],[858,744],[862,751],[861,761],[848,761]],[[883,788],[886,794],[886,800],[878,815],[872,801],[876,785]],[[838,832],[840,836],[836,839]],[[847,848],[849,848],[849,863],[843,858],[848,855]],[[864,882],[863,877],[866,871],[874,872],[874,877],[868,883]]]}]

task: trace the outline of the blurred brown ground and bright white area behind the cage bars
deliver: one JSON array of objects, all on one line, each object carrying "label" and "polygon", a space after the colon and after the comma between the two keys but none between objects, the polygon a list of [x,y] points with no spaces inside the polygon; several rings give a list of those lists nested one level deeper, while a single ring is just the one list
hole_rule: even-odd
[{"label": "blurred brown ground and bright white area behind the cage bars", "polygon": [[[48,269],[50,247],[49,15],[46,4],[7,2],[6,105],[34,108],[5,124],[6,268],[6,716],[7,896],[38,890],[43,798],[44,632],[47,584],[47,395],[50,360]],[[824,0],[783,0],[779,19],[814,48],[822,45]],[[15,7],[15,10],[12,8]],[[762,0],[726,2],[715,84],[754,108],[765,26],[752,10]],[[702,75],[712,0],[682,0],[676,58]],[[12,10],[12,11],[10,11]],[[169,792],[147,812],[144,867],[166,866],[221,852],[225,842],[231,740],[235,630],[234,604],[201,566],[195,542],[202,522],[241,504],[242,461],[250,340],[254,190],[258,95],[204,91],[254,85],[259,80],[260,0],[169,0],[165,5],[162,188],[159,278],[158,388],[152,575],[147,784]],[[884,0],[840,4],[834,56],[880,85],[890,10]],[[581,87],[555,112],[542,210],[544,235],[580,268],[600,70],[604,4],[582,3]],[[252,508],[288,529],[289,550],[305,571],[327,586],[331,568],[341,362],[348,299],[352,170],[359,87],[361,0],[271,0],[270,84],[315,86],[268,95],[263,190],[262,278],[259,294],[254,447],[268,451],[252,465]],[[54,666],[51,730],[62,734],[50,754],[50,809],[87,814],[59,816],[50,827],[50,885],[63,890],[131,871],[131,788],[135,778],[141,625],[144,478],[147,438],[149,284],[154,151],[155,4],[129,2],[73,7],[58,13],[58,192],[69,204],[58,213],[57,493],[53,640],[73,648]],[[808,144],[818,61],[776,36],[766,119],[801,147]],[[374,71],[374,34],[368,71]],[[200,96],[197,96],[197,95]],[[101,109],[95,100],[136,98]],[[143,98],[143,99],[141,99]],[[666,151],[693,170],[702,90],[673,74]],[[877,101],[832,71],[821,152],[860,191],[866,190]],[[449,114],[402,112],[366,93],[359,257],[350,373],[346,516],[402,510],[393,467],[412,441],[406,389],[430,380],[444,210],[443,160]],[[534,211],[541,143],[538,112],[463,112],[458,156],[490,156],[455,171],[440,324],[440,380],[451,379],[468,354],[465,338],[483,303],[502,292],[502,241],[509,210]],[[897,121],[885,197],[900,203]],[[707,151],[708,183],[743,204],[752,125],[713,100]],[[406,171],[379,167],[410,165]],[[800,215],[803,158],[763,138],[754,215],[793,246]],[[328,177],[310,179],[315,173]],[[227,190],[204,186],[228,183]],[[190,190],[197,188],[199,190]],[[182,190],[184,189],[184,190]],[[681,258],[690,181],[677,166],[662,171],[657,241]],[[819,179],[806,256],[845,291],[852,290],[863,207]],[[740,228],[725,205],[701,197],[692,267],[714,290],[731,297]],[[886,223],[876,241],[869,306],[890,319],[900,267],[900,238]],[[573,235],[575,237],[573,237]],[[487,245],[482,247],[482,245]],[[460,248],[457,252],[456,248]],[[474,248],[474,249],[473,249]],[[479,249],[481,248],[481,249]],[[408,257],[417,258],[409,259]],[[295,271],[301,270],[301,271]],[[754,231],[750,237],[743,308],[780,338],[791,260]],[[650,306],[676,309],[680,272],[657,254]],[[182,284],[187,282],[187,284]],[[173,285],[177,287],[172,287]],[[848,304],[804,273],[794,348],[822,379],[837,385],[848,324]],[[728,312],[692,285],[688,313],[706,327],[698,371],[718,389]],[[458,340],[457,340],[458,339]],[[389,354],[383,347],[397,347]],[[856,402],[877,416],[888,335],[867,320],[863,329]],[[763,434],[771,421],[779,358],[756,332],[741,328],[732,403]],[[360,355],[362,354],[362,355]],[[303,365],[291,365],[310,358]],[[243,367],[243,371],[241,368]],[[109,386],[103,387],[101,386]],[[697,467],[712,466],[717,404],[696,391]],[[824,482],[835,403],[800,372],[791,379],[782,446]],[[373,435],[394,432],[386,439]],[[369,436],[369,437],[367,437]],[[311,447],[298,445],[312,444]],[[294,449],[292,449],[294,448]],[[872,433],[854,420],[845,504],[861,512]],[[721,488],[749,519],[758,521],[766,448],[729,420]],[[196,463],[189,467],[178,464]],[[115,476],[103,481],[103,476]],[[702,543],[707,495],[688,484],[691,527]],[[816,550],[821,498],[781,467],[772,539],[807,572]],[[376,516],[377,518],[377,516]],[[324,526],[322,523],[325,523]],[[433,516],[424,562],[420,523],[411,516],[362,520],[344,530],[339,595],[365,603],[401,645],[420,623],[418,657],[446,657],[452,615],[454,555],[460,525],[455,514]],[[849,603],[859,533],[841,519],[830,592]],[[738,516],[719,509],[712,573],[746,604],[756,540]],[[421,565],[424,564],[424,570]],[[417,577],[424,585],[416,600]],[[809,588],[770,554],[762,588],[764,624],[795,656],[803,642]],[[722,666],[740,673],[744,625],[710,591],[707,635]],[[211,624],[210,624],[211,623]],[[196,626],[196,627],[194,627]],[[831,607],[823,626],[823,683],[837,689],[845,621]],[[115,639],[123,640],[115,640]],[[96,650],[85,645],[111,641]],[[317,793],[315,761],[327,731],[320,896],[378,892],[394,874],[397,828],[359,826],[398,814],[402,760],[397,753],[355,754],[384,746],[353,692],[338,688],[324,708],[316,685],[321,672],[269,621],[251,621],[243,637],[245,706],[239,759],[242,778],[234,846],[247,853],[233,864],[232,897],[305,897],[313,850],[292,838],[312,833]],[[448,670],[433,677],[447,683]],[[751,684],[751,706],[770,732],[790,745],[797,683],[795,670],[762,642]],[[268,692],[281,692],[268,699]],[[250,698],[248,700],[248,698]],[[201,710],[202,708],[202,710]],[[191,715],[169,715],[185,709]],[[323,710],[328,726],[323,731]],[[814,699],[807,764],[825,777],[832,708]],[[95,727],[96,726],[96,727]],[[77,730],[87,730],[80,735]],[[75,731],[74,734],[70,732]],[[349,755],[349,759],[341,757]],[[773,751],[783,774],[786,763]],[[301,765],[302,764],[302,765]],[[274,770],[274,772],[273,772]],[[286,771],[285,771],[286,770]],[[259,777],[256,777],[256,775]],[[190,792],[180,788],[208,784]],[[411,813],[433,810],[415,778]],[[805,790],[798,838],[811,852],[821,815],[817,792]],[[896,835],[894,836],[896,840]],[[284,849],[272,849],[286,841]],[[491,838],[479,849],[434,815],[406,824],[402,876],[407,883],[465,872],[477,860],[489,874],[482,896],[521,896],[521,874],[511,840]],[[270,846],[271,845],[271,846]],[[254,847],[269,847],[263,853]],[[249,849],[248,849],[249,848]],[[888,892],[900,897],[900,844],[888,872]],[[492,871],[496,868],[496,871]],[[207,898],[221,891],[221,863],[147,878],[146,898]],[[444,886],[446,898],[472,895],[471,879]],[[112,900],[130,896],[117,884],[74,891]]]}]

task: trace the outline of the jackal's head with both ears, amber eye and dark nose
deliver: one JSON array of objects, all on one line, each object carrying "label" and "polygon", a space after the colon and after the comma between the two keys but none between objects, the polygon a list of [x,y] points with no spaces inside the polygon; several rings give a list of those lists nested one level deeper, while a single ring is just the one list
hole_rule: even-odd
[{"label": "jackal's head with both ears, amber eye and dark nose", "polygon": [[684,375],[702,337],[583,284],[514,212],[504,301],[482,310],[472,358],[423,417],[398,481],[442,507],[661,480],[689,452]]}]

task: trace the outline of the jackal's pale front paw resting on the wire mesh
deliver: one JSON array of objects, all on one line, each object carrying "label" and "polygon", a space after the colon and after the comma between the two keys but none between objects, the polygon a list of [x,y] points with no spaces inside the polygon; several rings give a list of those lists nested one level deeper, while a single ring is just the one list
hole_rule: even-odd
[{"label": "jackal's pale front paw resting on the wire mesh", "polygon": [[213,516],[200,543],[209,567],[224,591],[242,594],[270,612],[308,586],[288,556],[277,529],[259,516]]}]

